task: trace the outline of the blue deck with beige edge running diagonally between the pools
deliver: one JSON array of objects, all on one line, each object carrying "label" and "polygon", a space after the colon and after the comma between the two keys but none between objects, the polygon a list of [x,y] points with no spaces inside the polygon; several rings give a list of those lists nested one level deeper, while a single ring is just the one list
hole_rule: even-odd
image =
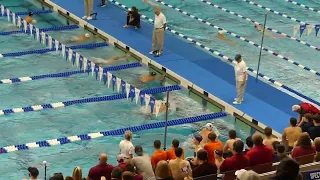
[{"label": "blue deck with beige edge running diagonally between the pools", "polygon": [[289,118],[296,116],[291,107],[300,100],[263,81],[256,83],[253,76],[248,79],[245,101],[233,106],[236,96],[233,66],[169,32],[165,33],[164,54],[157,58],[149,55],[153,26],[142,22],[142,28],[138,30],[123,28],[126,12],[110,2],[101,8],[98,6],[100,1],[95,1],[94,11],[98,13],[98,20],[86,23],[81,20],[84,15],[83,0],[44,1],[54,10],[79,21],[81,26],[92,30],[96,28],[98,33],[108,37],[109,42],[130,47],[131,52],[142,57],[142,62],[160,69],[164,67],[168,74],[181,80],[184,87],[194,88],[201,94],[208,93],[208,97],[222,104],[228,113],[236,113],[261,128],[270,126],[279,133],[287,127]]}]

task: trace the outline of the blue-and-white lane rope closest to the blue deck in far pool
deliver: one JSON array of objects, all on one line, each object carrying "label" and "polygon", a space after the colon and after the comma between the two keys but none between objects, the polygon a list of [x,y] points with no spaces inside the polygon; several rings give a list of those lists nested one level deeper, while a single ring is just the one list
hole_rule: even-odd
[{"label": "blue-and-white lane rope closest to the blue deck in far pool", "polygon": [[[123,9],[127,10],[127,11],[130,10],[129,7],[127,7],[127,6],[124,5],[124,4],[121,4],[120,2],[117,2],[117,1],[115,1],[115,0],[108,0],[108,1],[111,2],[111,3],[113,3],[113,4],[115,4],[115,5],[118,6],[118,7],[121,7],[121,8],[123,8]],[[143,14],[141,14],[141,18],[146,19],[147,21],[149,21],[149,22],[152,23],[152,24],[154,23],[153,19],[151,19],[151,18],[149,18],[149,17],[147,17],[147,16],[145,16],[145,15],[143,15]],[[178,31],[176,31],[176,30],[173,30],[173,29],[169,28],[168,26],[167,26],[166,30],[168,30],[169,32],[171,32],[171,33],[173,33],[173,34],[175,34],[175,35],[177,35],[177,36],[182,37],[183,39],[186,39],[187,41],[189,41],[189,42],[191,42],[191,43],[193,43],[193,44],[201,47],[202,49],[204,49],[204,50],[206,50],[206,51],[211,52],[212,54],[214,54],[214,55],[216,55],[216,56],[219,56],[219,57],[221,57],[221,58],[223,58],[223,59],[225,59],[225,60],[228,60],[228,61],[232,62],[233,64],[236,64],[236,63],[237,63],[235,60],[229,58],[228,56],[225,56],[225,55],[221,54],[220,52],[218,52],[218,51],[216,51],[216,50],[214,50],[214,49],[212,49],[212,48],[210,48],[210,47],[207,47],[207,46],[201,44],[200,42],[198,42],[198,41],[196,41],[196,40],[194,40],[194,39],[192,39],[192,38],[190,38],[190,37],[188,37],[188,36],[186,36],[186,35],[178,32]],[[252,68],[247,67],[247,70],[250,71],[250,72],[252,72],[253,74],[257,74],[257,71],[254,70],[254,69],[252,69]],[[305,96],[305,95],[303,95],[302,93],[300,93],[300,92],[298,92],[298,91],[296,91],[296,90],[294,90],[294,89],[292,89],[292,88],[290,88],[290,87],[288,87],[288,86],[286,86],[286,85],[284,85],[284,84],[282,84],[282,83],[280,83],[280,82],[278,82],[278,81],[276,81],[276,80],[274,80],[274,79],[271,79],[271,78],[268,77],[268,76],[263,75],[262,73],[259,73],[258,76],[261,77],[261,78],[263,78],[263,79],[265,79],[265,80],[267,80],[268,82],[270,82],[270,83],[272,83],[272,84],[277,85],[278,87],[281,87],[281,88],[283,88],[283,89],[285,89],[285,90],[287,90],[287,91],[289,91],[289,92],[291,92],[291,93],[293,93],[293,94],[295,94],[295,95],[297,95],[297,96],[299,96],[299,97],[301,97],[301,98],[303,98],[303,99],[306,99],[306,100],[308,100],[308,101],[310,101],[310,102],[312,102],[312,103],[320,106],[320,103],[317,102],[316,100],[313,100],[313,99],[311,99],[310,97]],[[290,95],[290,94],[289,94],[289,95]]]}]

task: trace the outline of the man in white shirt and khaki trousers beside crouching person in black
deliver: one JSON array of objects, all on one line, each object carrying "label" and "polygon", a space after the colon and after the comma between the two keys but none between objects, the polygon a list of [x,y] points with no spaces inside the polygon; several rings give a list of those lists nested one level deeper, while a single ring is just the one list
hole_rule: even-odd
[{"label": "man in white shirt and khaki trousers beside crouching person in black", "polygon": [[[166,29],[167,20],[161,13],[160,7],[154,7],[154,30],[152,35],[152,51],[150,54],[160,56],[163,51],[164,31]],[[157,49],[158,46],[158,49]]]}]

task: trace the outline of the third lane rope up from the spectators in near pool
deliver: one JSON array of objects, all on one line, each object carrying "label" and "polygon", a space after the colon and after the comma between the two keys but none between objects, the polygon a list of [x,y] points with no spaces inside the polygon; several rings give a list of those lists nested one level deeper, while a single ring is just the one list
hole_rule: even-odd
[{"label": "third lane rope up from the spectators in near pool", "polygon": [[[141,67],[141,63],[130,63],[130,64],[124,64],[124,65],[118,65],[118,66],[110,66],[105,67],[104,71],[120,71],[124,69],[130,69],[130,68],[136,68]],[[38,75],[38,76],[26,76],[26,77],[18,77],[18,78],[10,78],[10,79],[2,79],[0,80],[0,84],[13,84],[13,83],[19,83],[19,82],[26,82],[26,81],[34,81],[34,80],[40,80],[45,78],[60,78],[60,77],[68,77],[75,74],[83,74],[87,73],[84,70],[79,71],[68,71],[68,72],[61,72],[61,73],[54,73],[54,74],[44,74],[44,75]]]}]

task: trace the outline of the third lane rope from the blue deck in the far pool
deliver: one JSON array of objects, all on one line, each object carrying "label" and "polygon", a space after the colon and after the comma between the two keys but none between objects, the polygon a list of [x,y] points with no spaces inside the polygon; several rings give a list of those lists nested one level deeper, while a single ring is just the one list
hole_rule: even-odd
[{"label": "third lane rope from the blue deck in the far pool", "polygon": [[[249,22],[252,22],[252,23],[254,23],[254,24],[257,24],[257,25],[260,25],[261,27],[263,27],[263,24],[261,24],[261,23],[259,23],[259,22],[257,22],[257,21],[254,21],[253,19],[250,19],[250,18],[248,18],[248,17],[242,16],[242,15],[236,13],[236,12],[233,12],[233,11],[230,11],[230,10],[228,10],[228,9],[226,9],[226,8],[223,8],[223,7],[221,7],[221,6],[217,5],[217,4],[213,4],[213,3],[211,3],[211,2],[209,2],[209,1],[207,1],[207,0],[200,0],[200,1],[203,2],[203,3],[206,3],[206,4],[210,5],[210,6],[213,6],[213,7],[215,7],[215,8],[218,8],[218,9],[224,11],[224,12],[227,12],[227,13],[229,13],[229,14],[235,15],[235,16],[237,16],[237,17],[240,17],[240,18],[242,18],[242,19],[244,19],[244,20],[247,20],[247,21],[249,21]],[[308,46],[308,47],[311,48],[311,49],[320,51],[320,49],[319,49],[318,47],[315,47],[315,46],[311,45],[310,43],[307,43],[307,42],[305,42],[305,41],[302,41],[302,40],[300,40],[300,39],[297,39],[297,38],[295,38],[295,37],[292,37],[292,36],[290,36],[290,35],[288,35],[288,34],[286,34],[286,33],[283,33],[283,32],[281,32],[281,31],[278,31],[278,30],[273,29],[273,28],[268,27],[268,26],[266,26],[266,29],[269,30],[269,31],[271,31],[271,32],[280,34],[280,35],[282,35],[282,36],[284,36],[284,37],[286,37],[286,38],[288,38],[288,39],[290,39],[290,40],[294,40],[294,41],[296,41],[296,42],[299,42],[300,44],[306,45],[306,46]]]}]

